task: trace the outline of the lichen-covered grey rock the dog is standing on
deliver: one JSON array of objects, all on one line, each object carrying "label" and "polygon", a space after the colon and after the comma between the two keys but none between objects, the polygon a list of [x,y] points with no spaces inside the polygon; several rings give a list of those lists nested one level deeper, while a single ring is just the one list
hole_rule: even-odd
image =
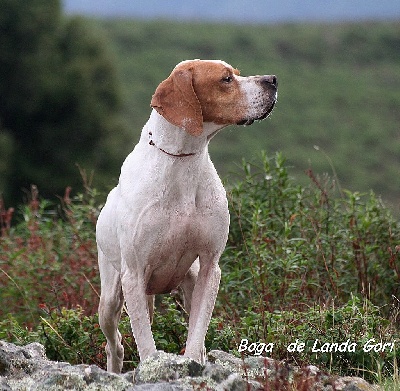
[{"label": "lichen-covered grey rock the dog is standing on", "polygon": [[134,372],[108,373],[94,365],[70,365],[46,358],[38,343],[25,347],[0,341],[0,391],[186,391],[261,389],[375,391],[365,380],[335,377],[315,366],[298,368],[266,357],[244,360],[211,351],[201,365],[189,358],[157,352]]}]

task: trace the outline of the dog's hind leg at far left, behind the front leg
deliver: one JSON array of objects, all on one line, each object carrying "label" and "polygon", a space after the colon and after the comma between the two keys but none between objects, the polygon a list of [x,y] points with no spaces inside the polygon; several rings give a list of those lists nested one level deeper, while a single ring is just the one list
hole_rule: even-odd
[{"label": "dog's hind leg at far left, behind the front leg", "polygon": [[121,318],[124,298],[122,295],[120,273],[107,262],[103,252],[99,252],[101,295],[99,304],[99,324],[106,339],[107,371],[121,373],[124,348],[118,323]]}]

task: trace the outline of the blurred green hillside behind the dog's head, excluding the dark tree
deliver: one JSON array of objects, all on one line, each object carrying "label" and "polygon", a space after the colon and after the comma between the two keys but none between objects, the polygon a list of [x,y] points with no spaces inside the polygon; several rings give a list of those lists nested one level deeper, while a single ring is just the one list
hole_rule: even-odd
[{"label": "blurred green hillside behind the dog's head, excluding the dark tree", "polygon": [[400,22],[93,23],[106,30],[124,86],[132,145],[122,155],[138,139],[151,95],[176,63],[224,59],[243,75],[276,74],[279,97],[270,119],[231,127],[213,140],[210,152],[223,176],[235,172],[242,157],[281,150],[300,182],[308,180],[307,168],[317,174],[332,174],[334,168],[342,188],[373,189],[398,208]]}]

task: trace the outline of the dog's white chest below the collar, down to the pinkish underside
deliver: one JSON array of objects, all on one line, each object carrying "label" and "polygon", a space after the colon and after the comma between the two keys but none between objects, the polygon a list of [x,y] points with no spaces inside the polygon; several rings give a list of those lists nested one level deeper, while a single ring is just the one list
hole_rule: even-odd
[{"label": "dog's white chest below the collar, down to the pinkish underside", "polygon": [[118,235],[128,244],[122,249],[127,266],[144,272],[146,292],[155,294],[178,286],[197,257],[201,262],[222,253],[229,212],[206,153],[185,160],[167,158],[154,147],[144,155],[147,150],[138,148],[124,163]]}]

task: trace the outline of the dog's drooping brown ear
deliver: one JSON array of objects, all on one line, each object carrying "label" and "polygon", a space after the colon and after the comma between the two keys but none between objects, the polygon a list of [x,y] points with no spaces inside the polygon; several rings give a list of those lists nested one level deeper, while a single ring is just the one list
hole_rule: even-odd
[{"label": "dog's drooping brown ear", "polygon": [[174,69],[168,79],[157,87],[150,105],[168,122],[192,136],[203,132],[203,113],[193,89],[191,67]]}]

